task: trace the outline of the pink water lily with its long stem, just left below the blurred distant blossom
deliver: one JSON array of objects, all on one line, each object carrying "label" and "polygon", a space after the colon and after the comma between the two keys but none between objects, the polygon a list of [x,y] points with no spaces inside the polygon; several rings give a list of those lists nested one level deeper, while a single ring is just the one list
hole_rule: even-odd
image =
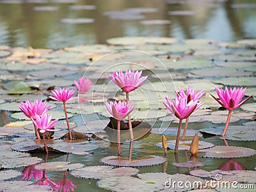
[{"label": "pink water lily with its long stem, just left below the blurred distant blossom", "polygon": [[72,95],[74,94],[74,92],[76,92],[75,89],[71,89],[71,90],[69,90],[68,88],[67,89],[65,89],[65,88],[61,89],[61,87],[60,87],[59,90],[54,89],[52,91],[52,96],[49,96],[49,98],[51,98],[52,100],[63,102],[63,108],[64,108],[65,117],[66,117],[66,121],[67,121],[68,135],[69,135],[70,140],[72,140],[72,133],[71,133],[70,125],[69,125],[69,122],[68,122],[66,102],[72,98]]}]

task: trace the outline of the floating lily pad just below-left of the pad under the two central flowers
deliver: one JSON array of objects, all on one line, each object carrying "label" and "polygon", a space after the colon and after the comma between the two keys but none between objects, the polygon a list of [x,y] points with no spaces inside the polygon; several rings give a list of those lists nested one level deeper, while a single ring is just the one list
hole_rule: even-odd
[{"label": "floating lily pad just below-left of the pad under the two central flowers", "polygon": [[104,179],[109,177],[120,177],[122,175],[136,175],[139,170],[131,167],[119,167],[113,166],[86,166],[73,170],[70,175],[78,177],[80,179]]}]

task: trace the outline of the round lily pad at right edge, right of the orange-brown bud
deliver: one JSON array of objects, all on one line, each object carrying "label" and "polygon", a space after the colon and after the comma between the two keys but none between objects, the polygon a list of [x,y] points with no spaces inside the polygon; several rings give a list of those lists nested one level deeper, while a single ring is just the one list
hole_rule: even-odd
[{"label": "round lily pad at right edge, right of the orange-brown bud", "polygon": [[198,156],[203,158],[243,158],[254,156],[255,154],[256,150],[254,149],[224,145],[198,151]]}]

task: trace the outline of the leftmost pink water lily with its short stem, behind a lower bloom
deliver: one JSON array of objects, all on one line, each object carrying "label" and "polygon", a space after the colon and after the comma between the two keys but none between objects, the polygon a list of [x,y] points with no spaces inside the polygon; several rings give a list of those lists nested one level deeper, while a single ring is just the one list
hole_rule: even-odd
[{"label": "leftmost pink water lily with its short stem, behind a lower bloom", "polygon": [[[22,112],[24,113],[24,115],[26,115],[29,119],[35,119],[35,115],[42,115],[45,112],[47,112],[47,110],[49,110],[49,107],[47,107],[46,105],[46,101],[42,101],[42,100],[35,100],[34,103],[32,104],[29,100],[23,102],[20,102],[20,105],[18,106],[20,108],[20,110],[22,110]],[[40,135],[38,133],[38,130],[34,124],[34,128],[35,128],[35,133],[36,133],[36,137],[40,140]]]}]

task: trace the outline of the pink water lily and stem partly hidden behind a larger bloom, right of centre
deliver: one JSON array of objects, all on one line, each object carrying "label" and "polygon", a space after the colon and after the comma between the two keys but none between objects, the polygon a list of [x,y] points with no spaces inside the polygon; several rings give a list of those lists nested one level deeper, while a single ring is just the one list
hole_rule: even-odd
[{"label": "pink water lily and stem partly hidden behind a larger bloom, right of centre", "polygon": [[[196,92],[196,88],[191,89],[189,86],[187,88],[186,93],[183,91],[183,89],[181,87],[179,87],[179,93],[176,92],[176,96],[180,96],[182,98],[188,98],[187,102],[189,102],[190,100],[199,101],[200,98],[202,98],[202,96],[204,94],[205,94],[205,92],[203,90],[200,90],[200,91]],[[182,139],[181,139],[182,141],[185,140],[186,131],[187,131],[187,128],[188,128],[188,121],[189,121],[189,117],[186,118],[184,131],[183,131]]]}]

